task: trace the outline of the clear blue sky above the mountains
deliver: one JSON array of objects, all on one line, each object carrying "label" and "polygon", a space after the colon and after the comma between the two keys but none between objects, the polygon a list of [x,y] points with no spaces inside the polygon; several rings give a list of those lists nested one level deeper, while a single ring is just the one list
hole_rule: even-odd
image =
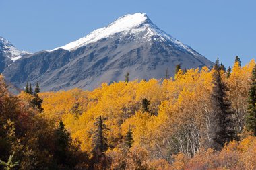
[{"label": "clear blue sky above the mountains", "polygon": [[242,65],[256,58],[253,0],[0,0],[0,36],[20,50],[51,50],[136,12],[226,67],[236,55]]}]

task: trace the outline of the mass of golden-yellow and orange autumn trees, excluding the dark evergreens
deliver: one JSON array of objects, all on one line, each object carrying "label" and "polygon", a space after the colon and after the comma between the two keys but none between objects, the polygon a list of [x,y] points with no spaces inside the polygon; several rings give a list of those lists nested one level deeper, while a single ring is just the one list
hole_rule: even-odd
[{"label": "mass of golden-yellow and orange autumn trees, excluding the dark evergreens", "polygon": [[[244,67],[235,63],[229,78],[222,71],[239,134],[245,131],[254,65],[254,60]],[[39,93],[44,108],[41,116],[56,124],[62,120],[71,138],[89,155],[94,122],[98,116],[106,118],[109,169],[256,169],[255,137],[230,142],[218,152],[210,148],[213,72],[203,67],[186,73],[180,70],[174,79],[103,83],[94,91]],[[27,104],[31,97],[24,92],[18,95]],[[148,112],[142,109],[143,99],[150,101]],[[129,128],[133,144],[127,150],[123,145]]]}]

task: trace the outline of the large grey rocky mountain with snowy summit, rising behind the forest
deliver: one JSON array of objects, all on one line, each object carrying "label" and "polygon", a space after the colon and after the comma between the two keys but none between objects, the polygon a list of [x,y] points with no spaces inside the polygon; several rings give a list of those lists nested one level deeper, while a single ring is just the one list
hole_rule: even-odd
[{"label": "large grey rocky mountain with snowy summit, rising behind the forest", "polygon": [[212,62],[160,30],[144,13],[125,15],[84,38],[49,51],[22,56],[3,75],[23,88],[27,81],[40,83],[43,91],[79,87],[94,89],[101,83],[124,80],[160,79],[166,69],[195,68]]}]

